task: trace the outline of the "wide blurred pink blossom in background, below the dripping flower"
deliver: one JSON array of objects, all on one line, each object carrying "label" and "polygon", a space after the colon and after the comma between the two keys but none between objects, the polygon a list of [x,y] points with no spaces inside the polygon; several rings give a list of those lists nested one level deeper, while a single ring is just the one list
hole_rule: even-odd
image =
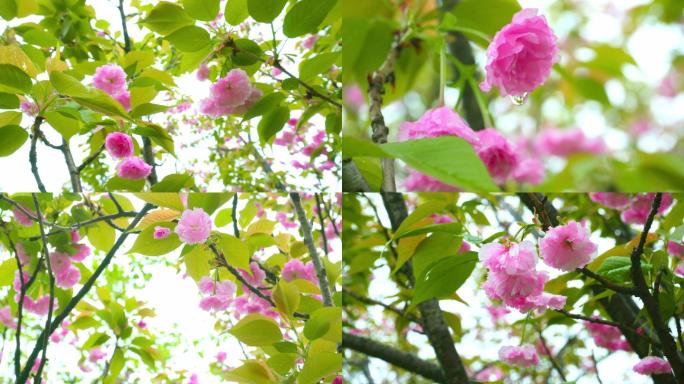
[{"label": "wide blurred pink blossom in background, below the dripping flower", "polygon": [[589,138],[578,128],[546,128],[537,137],[534,147],[542,155],[560,157],[568,157],[576,153],[606,152],[603,139]]}]

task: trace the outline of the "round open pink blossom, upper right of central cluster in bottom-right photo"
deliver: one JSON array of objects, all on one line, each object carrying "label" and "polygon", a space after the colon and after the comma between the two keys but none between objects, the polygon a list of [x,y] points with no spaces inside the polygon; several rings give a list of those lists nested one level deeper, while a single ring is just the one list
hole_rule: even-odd
[{"label": "round open pink blossom, upper right of central cluster in bottom-right photo", "polygon": [[563,271],[584,267],[598,249],[589,235],[589,230],[576,221],[551,228],[539,243],[544,262]]}]

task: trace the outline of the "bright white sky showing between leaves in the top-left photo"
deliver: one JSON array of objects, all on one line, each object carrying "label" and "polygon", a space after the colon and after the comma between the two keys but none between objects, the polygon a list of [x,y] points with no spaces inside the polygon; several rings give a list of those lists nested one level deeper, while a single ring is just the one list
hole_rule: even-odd
[{"label": "bright white sky showing between leaves in the top-left photo", "polygon": [[[150,1],[142,1],[143,3],[150,3]],[[116,34],[117,32],[121,31],[121,20],[119,18],[119,11],[116,5],[118,5],[118,1],[110,1],[110,0],[88,0],[87,2],[89,5],[92,5],[93,8],[96,11],[97,19],[102,19],[106,20],[109,22],[110,27],[109,30],[112,34]],[[116,3],[116,4],[115,4]],[[130,4],[129,1],[125,2],[126,4]],[[225,1],[221,1],[221,11],[223,10],[225,5]],[[136,12],[134,8],[127,7],[126,13],[127,14],[133,14]],[[15,26],[18,24],[21,24],[23,22],[27,21],[32,21],[36,22],[39,20],[39,17],[37,16],[29,16],[25,19],[21,19],[21,22],[18,21],[18,19],[12,20],[11,25]],[[249,19],[251,20],[251,19]],[[279,22],[280,21],[280,22]],[[225,21],[224,21],[225,23]],[[281,40],[281,45],[280,49],[281,51],[284,52],[296,52],[295,51],[295,44],[297,44],[301,39],[287,39],[280,31],[280,28],[278,27],[279,23],[282,23],[282,15],[275,21],[276,24],[276,33],[278,35],[278,38]],[[4,19],[0,20],[0,30],[4,30],[7,26],[8,22],[6,22]],[[144,36],[146,33],[149,31],[147,29],[142,30],[139,28],[137,25],[137,19],[132,19],[129,20],[128,22],[128,30],[129,34],[132,39],[140,41],[142,39],[142,36]],[[265,36],[269,38],[271,36],[271,31],[268,25],[258,25],[258,27],[254,28],[252,32],[250,33],[251,37],[256,37],[256,36]],[[123,38],[119,38],[119,40],[123,41]],[[292,63],[285,63],[285,66],[293,72],[295,75],[298,73],[298,66],[297,64],[292,64]],[[161,69],[159,65],[157,65],[158,69]],[[280,76],[283,78],[283,76]],[[46,78],[45,74],[42,74],[40,79]],[[263,79],[262,81],[266,81]],[[90,78],[86,78],[86,84],[90,85]],[[180,90],[181,95],[189,97],[191,100],[193,100],[193,108],[186,111],[185,115],[190,115],[190,114],[195,114],[198,112],[198,105],[200,100],[206,98],[209,94],[209,82],[198,82],[195,73],[188,73],[185,74],[179,78],[176,78],[176,84],[178,85],[178,89]],[[157,98],[155,99],[156,103],[163,104],[163,105],[169,105],[169,101],[165,100],[163,97],[163,93],[160,93]],[[301,114],[301,111],[293,111],[294,113],[292,114],[291,117],[299,117]],[[163,126],[165,126],[165,119],[162,117],[164,114],[158,114],[153,116],[153,121],[157,122]],[[176,115],[176,117],[182,116],[181,114]],[[24,116],[24,119],[22,120],[22,127],[30,127],[32,124],[33,119]],[[256,131],[256,125],[258,124],[259,119],[253,119],[252,120],[252,132],[251,135],[253,138],[258,138],[258,133]],[[318,129],[324,129],[325,124],[324,124],[324,119],[322,119],[320,116],[316,115],[314,116],[311,120],[310,123],[314,125],[314,128],[316,129],[310,129],[309,130],[309,135],[307,137],[311,138],[313,134],[318,130]],[[286,127],[287,128],[287,127]],[[166,156],[167,160],[162,164],[160,167],[157,168],[157,174],[160,176],[160,180],[163,176],[166,176],[171,173],[176,173],[176,172],[183,172],[185,170],[191,169],[197,172],[206,172],[206,166],[202,166],[201,164],[199,166],[191,167],[189,165],[189,162],[191,160],[203,160],[208,158],[208,153],[214,151],[213,149],[213,138],[207,139],[206,132],[204,133],[192,133],[195,131],[194,128],[190,128],[187,126],[183,126],[182,124],[179,127],[179,130],[182,131],[183,133],[180,135],[180,137],[174,137],[176,143],[175,143],[175,149],[176,149],[176,155],[178,156],[178,160],[174,160],[170,156]],[[53,130],[49,125],[44,124],[43,125],[43,132],[46,134],[48,139],[53,142],[53,143],[61,143],[61,139],[59,137],[59,134],[55,130]],[[244,135],[244,134],[243,134]],[[204,140],[202,140],[204,139]],[[188,148],[185,146],[181,146],[181,143],[194,143],[200,141],[200,144],[195,147],[195,148]],[[86,143],[86,140],[84,137],[80,138],[72,138],[71,140],[71,148],[72,152],[75,158],[76,164],[80,164],[81,161],[88,156],[88,153],[83,153],[83,151],[79,150],[79,147],[82,147]],[[140,142],[140,144],[142,144]],[[33,175],[30,172],[30,165],[28,162],[28,153],[29,153],[29,145],[28,141],[25,143],[18,151],[16,151],[14,154],[8,157],[0,157],[0,169],[5,170],[5,176],[2,179],[0,179],[0,190],[10,190],[10,191],[32,191],[36,190],[36,182],[35,179],[33,178]],[[294,169],[291,167],[290,163],[293,159],[298,159],[299,161],[304,161],[306,157],[302,156],[301,154],[290,154],[289,151],[281,146],[272,146],[271,148],[267,148],[265,150],[262,150],[262,153],[266,154],[266,157],[269,159],[273,159],[273,169],[275,171],[283,171],[287,170],[288,172],[295,172],[299,173],[298,170]],[[112,172],[112,175],[115,173],[115,165],[116,163],[111,161],[109,156],[106,156],[106,161],[108,164],[111,165],[110,169]],[[339,161],[339,160],[338,160]],[[176,166],[175,163],[178,163],[180,166]],[[41,175],[41,178],[43,180],[43,183],[45,184],[45,187],[48,191],[56,191],[56,190],[61,190],[64,187],[69,188],[70,185],[68,185],[69,182],[69,174],[67,172],[66,165],[64,163],[64,157],[62,156],[61,152],[53,150],[51,148],[47,148],[45,145],[42,143],[38,144],[38,169]],[[260,171],[260,170],[259,170]],[[330,191],[335,191],[335,190],[341,190],[341,181],[337,180],[335,177],[330,172],[325,172],[323,175],[323,185],[327,186],[328,190]],[[316,185],[316,179],[315,177],[308,177],[305,179],[299,179],[299,180],[293,180],[290,179],[288,180],[290,182],[296,183],[296,185],[300,186],[300,190],[313,190],[314,186]],[[222,183],[217,183],[213,182],[212,184],[209,185],[209,188],[207,190],[209,191],[222,191],[224,190],[224,186]],[[228,186],[230,188],[230,186]]]}]

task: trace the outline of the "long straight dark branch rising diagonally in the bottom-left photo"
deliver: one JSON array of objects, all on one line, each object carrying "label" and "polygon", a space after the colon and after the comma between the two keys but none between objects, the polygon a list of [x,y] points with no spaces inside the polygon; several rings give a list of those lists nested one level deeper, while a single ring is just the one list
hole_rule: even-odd
[{"label": "long straight dark branch rising diagonally in the bottom-left photo", "polygon": [[76,305],[85,297],[85,295],[90,291],[90,289],[93,287],[95,284],[95,281],[100,277],[102,272],[107,268],[109,263],[112,261],[112,258],[116,254],[117,250],[123,245],[124,241],[130,234],[130,231],[135,228],[136,225],[138,225],[138,222],[147,214],[147,212],[152,209],[154,206],[152,204],[145,204],[145,206],[138,212],[138,214],[135,216],[135,218],[131,221],[131,223],[128,225],[126,228],[126,232],[123,232],[119,237],[116,239],[116,242],[110,248],[109,252],[107,252],[107,255],[105,256],[104,260],[102,260],[102,263],[97,267],[95,272],[90,276],[88,281],[86,281],[85,284],[83,284],[83,287],[74,295],[74,297],[69,300],[69,303],[64,307],[64,310],[55,317],[55,319],[52,321],[50,326],[48,328],[43,329],[41,332],[40,336],[38,336],[38,339],[36,340],[36,345],[33,347],[33,351],[31,352],[31,355],[28,358],[28,361],[26,362],[26,365],[24,366],[24,369],[21,372],[21,375],[19,377],[19,380],[17,380],[18,384],[25,384],[26,381],[28,380],[28,377],[31,372],[31,367],[36,361],[36,358],[38,357],[38,352],[43,348],[43,344],[46,342],[47,338],[50,337],[50,335],[62,324],[62,321],[66,319],[71,311],[76,307]]}]

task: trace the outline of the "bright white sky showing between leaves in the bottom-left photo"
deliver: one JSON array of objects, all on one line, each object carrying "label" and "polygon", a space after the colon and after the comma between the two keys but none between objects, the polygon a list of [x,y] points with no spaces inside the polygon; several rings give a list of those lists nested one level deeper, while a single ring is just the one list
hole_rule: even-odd
[{"label": "bright white sky showing between leaves in the bottom-left photo", "polygon": [[[142,207],[142,202],[140,200],[137,200],[132,196],[129,197],[136,209]],[[327,200],[330,199],[328,198]],[[333,199],[332,201],[335,200]],[[238,212],[244,208],[246,203],[247,200],[245,198],[239,200]],[[286,206],[288,204],[288,199],[278,198],[278,203],[279,205]],[[230,202],[222,208],[226,208],[229,205]],[[267,217],[271,220],[276,220],[275,212],[267,211]],[[316,228],[317,227],[314,227],[314,229]],[[232,224],[214,229],[233,234]],[[287,232],[292,234],[295,238],[301,239],[297,229],[285,230],[278,224],[276,226],[276,231]],[[134,241],[135,236],[131,236],[126,240],[124,245],[120,248],[119,253],[113,259],[112,264],[127,266],[130,265],[131,258],[145,257],[137,254],[127,254],[128,250],[133,246]],[[329,254],[330,260],[332,262],[340,261],[342,258],[340,240],[333,239],[330,242],[330,245],[334,250]],[[275,252],[276,251],[273,248],[270,250],[269,248],[266,248],[264,251],[257,252],[255,256],[257,258],[263,257],[260,259],[265,260],[265,257],[268,257]],[[161,257],[164,257],[167,261],[171,261],[173,264],[176,260],[180,260],[179,255],[180,248],[173,253]],[[7,260],[9,257],[10,255],[3,250],[0,252],[0,263]],[[85,262],[90,265],[89,263],[97,260],[99,263],[102,260],[102,257],[103,255],[97,255],[95,258],[91,256],[86,259]],[[127,294],[129,297],[136,297],[139,300],[145,301],[147,307],[154,309],[156,316],[147,318],[146,323],[148,328],[156,334],[157,337],[170,340],[171,333],[180,335],[178,347],[170,350],[170,360],[168,361],[167,366],[173,367],[175,371],[185,369],[188,372],[197,373],[202,384],[221,382],[209,372],[209,363],[215,361],[215,356],[218,351],[225,351],[228,354],[226,364],[231,367],[240,366],[241,359],[244,358],[244,355],[240,350],[237,340],[225,332],[220,334],[218,331],[214,330],[216,318],[199,308],[201,296],[197,289],[197,284],[191,278],[184,276],[184,266],[180,267],[179,273],[176,271],[175,267],[165,266],[160,259],[154,257],[148,257],[148,259],[144,261],[144,265],[143,269],[152,276],[151,279],[144,284],[144,288],[130,288],[130,291],[128,291]],[[93,269],[94,267],[91,267],[91,270]],[[90,295],[89,297],[93,298],[95,296]],[[221,318],[235,321],[230,313],[222,315]],[[14,375],[11,364],[13,361],[12,357],[14,356],[13,340],[12,336],[12,340],[6,342],[4,352],[0,355],[0,382],[2,381],[2,378],[11,378]],[[85,338],[82,338],[77,345],[81,345],[83,342],[85,342]],[[111,357],[113,346],[109,346],[111,348],[103,349],[109,353],[108,357]],[[247,350],[247,353],[252,350],[252,348],[248,346],[245,346],[245,349]],[[50,363],[46,366],[48,378],[56,377],[53,374],[54,372],[70,371],[80,375],[81,371],[77,367],[79,358],[80,355],[77,350],[67,343],[50,344],[48,348],[48,359]],[[84,373],[83,379],[97,378],[98,373],[102,372],[102,364],[103,362],[100,362],[99,368],[95,369],[93,372],[89,374]],[[150,379],[146,375],[139,376],[138,380],[142,380],[139,382],[146,382]],[[53,381],[50,380],[50,382]]]}]

